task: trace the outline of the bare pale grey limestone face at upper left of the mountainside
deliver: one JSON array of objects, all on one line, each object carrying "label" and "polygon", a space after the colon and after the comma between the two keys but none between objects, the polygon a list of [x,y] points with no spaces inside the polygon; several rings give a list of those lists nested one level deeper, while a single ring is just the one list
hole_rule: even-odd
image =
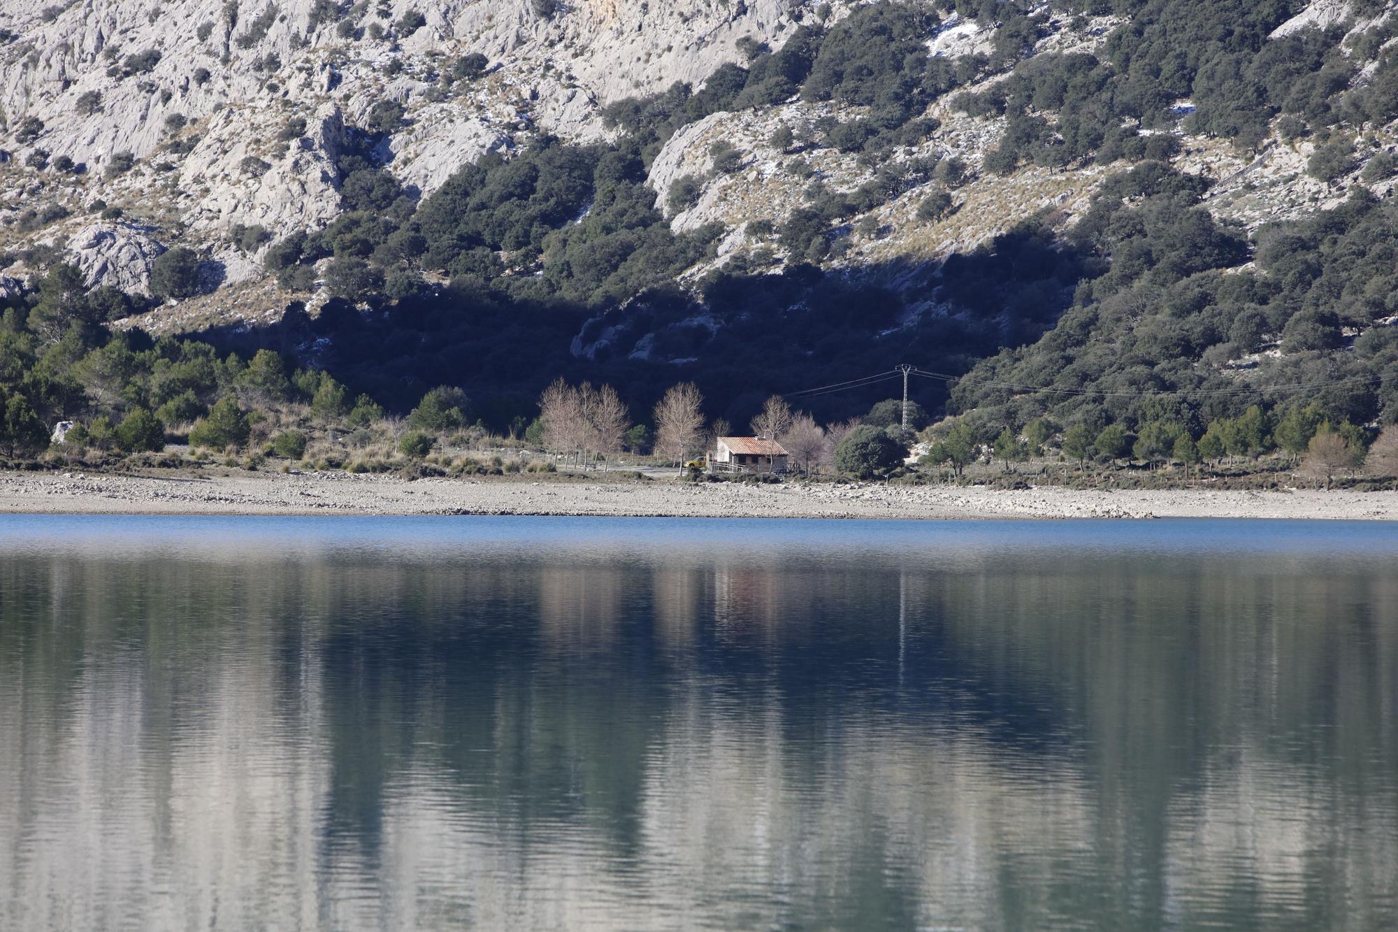
[{"label": "bare pale grey limestone face at upper left of the mountainside", "polygon": [[[14,158],[0,169],[22,175],[39,148],[66,157],[81,183],[46,178],[28,192],[18,179],[24,200],[52,195],[70,213],[102,200],[203,250],[236,224],[316,230],[338,216],[336,160],[370,132],[380,101],[405,119],[376,155],[428,195],[535,129],[596,141],[608,102],[699,84],[738,60],[744,36],[779,46],[815,3],[573,0],[548,17],[533,0],[340,6],[348,13],[317,0],[4,4],[14,38],[0,43],[0,151]],[[425,25],[403,25],[407,13]],[[488,73],[454,80],[471,53]],[[306,130],[288,136],[295,119]]]}]

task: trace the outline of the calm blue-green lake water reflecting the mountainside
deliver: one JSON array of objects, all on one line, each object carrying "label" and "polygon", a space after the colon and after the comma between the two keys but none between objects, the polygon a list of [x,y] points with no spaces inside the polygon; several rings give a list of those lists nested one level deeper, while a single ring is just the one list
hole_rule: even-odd
[{"label": "calm blue-green lake water reflecting the mountainside", "polygon": [[0,516],[0,928],[1391,929],[1395,557]]}]

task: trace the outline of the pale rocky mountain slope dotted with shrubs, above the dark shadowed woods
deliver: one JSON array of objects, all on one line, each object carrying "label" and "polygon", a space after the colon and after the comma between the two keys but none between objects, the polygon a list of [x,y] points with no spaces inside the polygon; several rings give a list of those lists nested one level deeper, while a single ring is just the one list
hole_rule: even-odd
[{"label": "pale rocky mountain slope dotted with shrubs, above the dark shadowed woods", "polygon": [[[702,241],[670,260],[661,278],[696,295],[720,271],[772,276],[814,266],[871,278],[902,301],[895,319],[864,325],[872,341],[974,308],[965,290],[938,284],[948,267],[977,250],[1008,255],[997,243],[1025,221],[1044,236],[1068,236],[1109,178],[1145,161],[1204,179],[1198,206],[1243,236],[1335,209],[1359,189],[1380,200],[1391,195],[1398,172],[1383,165],[1398,151],[1398,125],[1374,119],[1383,112],[1374,106],[1360,111],[1366,88],[1388,80],[1395,4],[1317,0],[1281,14],[1234,4],[1246,13],[1237,34],[1253,29],[1262,39],[1257,48],[1219,39],[1223,52],[1202,63],[1191,59],[1199,43],[1172,25],[1167,6],[11,3],[0,13],[0,274],[18,291],[67,255],[89,284],[148,294],[157,256],[185,246],[201,260],[199,288],[145,312],[140,326],[161,333],[275,322],[294,301],[315,313],[336,291],[324,285],[329,249],[298,253],[306,276],[275,276],[268,252],[287,236],[337,230],[331,224],[347,214],[365,213],[415,228],[421,206],[463,167],[487,154],[507,162],[538,151],[547,137],[621,151],[635,143],[642,183],[670,234]],[[893,10],[888,24],[878,7]],[[909,36],[909,28],[918,32]],[[1100,88],[1079,92],[1097,81],[1120,83],[1117,101],[1132,94],[1131,56],[1146,57],[1139,36],[1152,29],[1166,36],[1152,41],[1173,46],[1167,55],[1149,50],[1162,64],[1152,66],[1158,87],[1148,105],[1103,105]],[[861,60],[840,70],[839,56],[857,55],[832,45],[856,41],[884,43],[899,59],[888,88],[840,90],[871,67]],[[793,42],[814,43],[800,67],[815,77],[783,85],[787,78],[776,76],[756,87],[759,73],[788,67],[781,56]],[[1296,64],[1240,77],[1268,55]],[[1172,84],[1172,69],[1188,71],[1187,80]],[[734,94],[713,90],[734,76]],[[812,92],[818,78],[835,81],[833,90]],[[656,101],[677,81],[721,104],[671,116],[658,130],[637,129],[636,120],[650,118],[636,116],[636,101]],[[1215,97],[1226,94],[1208,92],[1234,83],[1258,99],[1225,113]],[[1195,99],[1191,87],[1208,99]],[[1311,102],[1293,105],[1303,94]],[[1086,143],[1074,134],[1093,132]],[[366,211],[372,199],[351,193],[355,165],[391,179],[398,200]],[[934,195],[945,203],[930,204]],[[390,209],[390,200],[401,206]],[[584,199],[575,223],[591,210]],[[818,214],[811,235],[802,211]],[[566,232],[563,223],[556,228]],[[498,256],[488,264],[503,269],[491,273],[503,276],[496,285],[562,274],[556,257],[566,249],[556,239],[535,236],[526,249],[482,242]],[[440,287],[463,277],[463,262],[453,252],[436,269],[411,256],[407,266]],[[575,270],[583,264],[572,262]],[[1050,278],[1071,295],[1081,274]],[[703,351],[675,336],[679,325],[685,334],[730,326],[709,313],[707,297],[657,318],[654,301],[610,281],[570,298],[589,308],[583,326],[556,334],[572,360],[621,353],[684,364]],[[517,301],[523,292],[509,294]],[[1015,344],[1036,339],[1055,313],[1023,326],[974,326],[998,327],[1001,344]]]}]

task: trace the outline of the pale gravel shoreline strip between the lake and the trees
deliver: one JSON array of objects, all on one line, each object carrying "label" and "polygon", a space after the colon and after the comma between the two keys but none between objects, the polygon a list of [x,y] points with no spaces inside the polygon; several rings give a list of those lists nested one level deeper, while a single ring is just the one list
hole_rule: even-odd
[{"label": "pale gravel shoreline strip between the lake and the trees", "polygon": [[1398,491],[1021,491],[882,484],[421,479],[350,473],[0,472],[0,514],[635,518],[1398,518]]}]

